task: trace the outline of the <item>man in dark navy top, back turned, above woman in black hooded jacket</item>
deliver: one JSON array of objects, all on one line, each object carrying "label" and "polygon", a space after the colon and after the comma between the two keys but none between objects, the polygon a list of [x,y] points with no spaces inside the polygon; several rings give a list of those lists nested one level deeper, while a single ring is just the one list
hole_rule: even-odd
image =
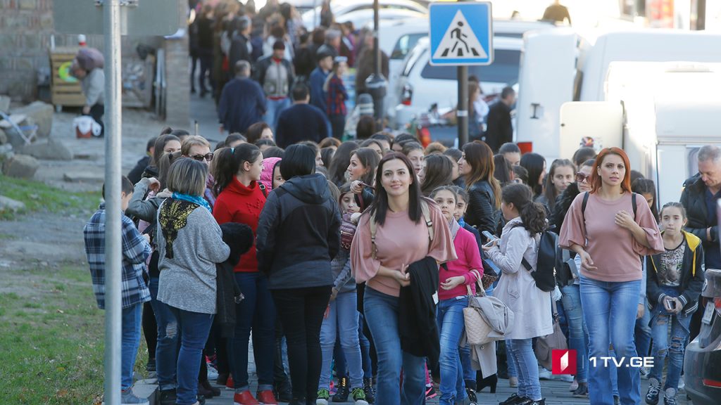
[{"label": "man in dark navy top, back turned, above woman in black hooded jacket", "polygon": [[287,148],[300,141],[320,141],[328,138],[325,115],[309,104],[309,89],[304,83],[293,86],[293,105],[280,113],[275,128],[275,143]]}]

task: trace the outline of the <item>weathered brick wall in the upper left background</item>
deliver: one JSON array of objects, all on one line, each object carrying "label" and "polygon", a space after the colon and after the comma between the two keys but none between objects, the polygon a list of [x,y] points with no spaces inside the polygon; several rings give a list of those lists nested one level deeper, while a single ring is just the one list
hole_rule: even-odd
[{"label": "weathered brick wall in the upper left background", "polygon": [[[92,1],[92,0],[87,0]],[[58,34],[53,23],[53,4],[63,4],[63,0],[0,0],[0,94],[7,94],[14,100],[30,102],[37,99],[38,72],[50,68],[50,37],[54,35],[56,47],[76,46],[77,35]],[[178,0],[179,6],[186,6],[187,0]],[[174,47],[174,58],[187,71],[187,39],[185,51]],[[162,37],[123,37],[123,62],[138,58],[136,47],[139,43],[154,48],[164,46]],[[87,35],[87,44],[92,48],[103,49],[102,35]],[[185,63],[182,63],[185,52]],[[179,54],[180,53],[180,54]],[[169,76],[171,76],[170,72]],[[181,82],[168,81],[168,88],[182,86],[188,91],[188,74],[173,74]],[[185,76],[185,77],[184,77]],[[170,77],[169,77],[170,79]],[[186,99],[188,96],[186,96]],[[174,106],[174,98],[168,98],[168,109],[185,108],[187,102]],[[187,112],[186,112],[187,116]]]}]

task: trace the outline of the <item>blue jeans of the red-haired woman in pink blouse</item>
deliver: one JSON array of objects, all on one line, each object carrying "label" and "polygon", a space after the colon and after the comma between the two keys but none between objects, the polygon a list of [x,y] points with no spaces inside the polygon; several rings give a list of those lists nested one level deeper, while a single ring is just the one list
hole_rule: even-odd
[{"label": "blue jeans of the red-haired woman in pink blouse", "polygon": [[[609,357],[609,345],[614,345],[617,358],[626,362],[616,368],[619,398],[622,405],[636,405],[641,399],[641,380],[638,368],[628,367],[630,357],[636,357],[634,326],[641,293],[641,280],[605,282],[588,277],[580,279],[581,306],[588,326],[588,394],[592,405],[613,405],[611,368],[601,357]],[[593,359],[593,360],[592,360]]]}]

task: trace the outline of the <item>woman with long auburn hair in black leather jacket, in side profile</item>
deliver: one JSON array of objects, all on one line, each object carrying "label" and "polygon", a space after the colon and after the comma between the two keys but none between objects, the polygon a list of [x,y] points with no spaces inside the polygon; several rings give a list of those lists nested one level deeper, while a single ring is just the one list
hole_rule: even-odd
[{"label": "woman with long auburn hair in black leather jacket, in side profile", "polygon": [[[463,157],[458,161],[459,172],[466,179],[469,201],[466,223],[480,233],[497,234],[500,213],[500,184],[493,176],[493,151],[483,141],[466,143]],[[485,243],[485,236],[481,236]]]}]

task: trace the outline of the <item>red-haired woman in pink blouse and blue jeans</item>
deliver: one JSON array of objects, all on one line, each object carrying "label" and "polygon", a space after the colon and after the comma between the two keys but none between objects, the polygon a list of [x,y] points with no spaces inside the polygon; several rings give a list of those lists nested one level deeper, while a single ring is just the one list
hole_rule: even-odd
[{"label": "red-haired woman in pink blouse and blue jeans", "polygon": [[642,287],[640,258],[663,252],[663,241],[645,200],[631,191],[630,174],[622,149],[603,149],[591,172],[590,192],[573,200],[559,236],[559,245],[576,252],[582,263],[580,295],[590,337],[592,405],[614,404],[610,368],[616,365],[602,358],[609,357],[609,344],[616,357],[624,359],[617,367],[621,403],[638,404],[641,396],[639,369],[628,364],[630,357],[637,356],[634,326]]}]

